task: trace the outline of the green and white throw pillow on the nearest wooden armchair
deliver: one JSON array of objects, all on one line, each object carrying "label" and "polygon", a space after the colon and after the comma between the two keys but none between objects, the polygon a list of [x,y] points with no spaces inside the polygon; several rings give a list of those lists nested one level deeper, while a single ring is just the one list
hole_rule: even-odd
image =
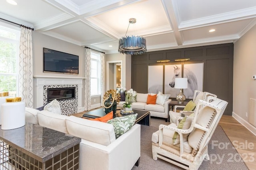
[{"label": "green and white throw pillow on the nearest wooden armchair", "polygon": [[[192,123],[192,120],[194,118],[194,113],[192,113],[191,115],[189,116],[185,116],[181,121],[180,123],[178,124],[178,127],[179,129],[189,129],[190,126],[191,126],[191,123]],[[187,134],[183,134],[183,142],[186,142],[188,141],[188,135],[189,133]],[[178,134],[178,132],[175,132],[173,137],[172,137],[172,142],[174,145],[177,145],[180,143],[180,135]]]}]

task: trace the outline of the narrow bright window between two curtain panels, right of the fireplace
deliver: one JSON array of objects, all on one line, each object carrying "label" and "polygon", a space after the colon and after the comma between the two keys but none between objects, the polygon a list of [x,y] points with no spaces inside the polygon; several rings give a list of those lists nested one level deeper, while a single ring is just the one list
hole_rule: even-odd
[{"label": "narrow bright window between two curtain panels, right of the fireplace", "polygon": [[91,52],[91,96],[100,94],[100,54]]}]

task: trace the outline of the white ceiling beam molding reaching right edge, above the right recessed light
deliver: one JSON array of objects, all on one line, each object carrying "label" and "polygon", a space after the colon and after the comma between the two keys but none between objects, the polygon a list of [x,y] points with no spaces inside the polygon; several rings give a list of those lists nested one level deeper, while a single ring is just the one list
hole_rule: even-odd
[{"label": "white ceiling beam molding reaching right edge, above the right recessed light", "polygon": [[197,18],[189,21],[182,21],[179,25],[180,30],[186,30],[196,27],[202,27],[206,25],[213,25],[216,23],[225,23],[230,21],[237,21],[241,19],[253,18],[256,16],[256,7],[246,8],[243,10],[236,10],[232,12],[226,12],[223,14]]}]

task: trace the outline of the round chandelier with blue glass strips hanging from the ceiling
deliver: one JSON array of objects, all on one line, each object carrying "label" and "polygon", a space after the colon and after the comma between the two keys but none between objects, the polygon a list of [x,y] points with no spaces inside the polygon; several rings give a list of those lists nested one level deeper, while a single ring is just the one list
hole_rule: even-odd
[{"label": "round chandelier with blue glass strips hanging from the ceiling", "polygon": [[[136,23],[135,18],[129,19],[129,25],[130,23]],[[129,28],[128,25],[128,28]],[[127,28],[127,31],[128,31]],[[126,36],[127,31],[125,33],[125,36],[119,39],[119,47],[118,52],[122,54],[130,54],[130,55],[138,55],[142,53],[147,52],[146,48],[146,39],[139,36]]]}]

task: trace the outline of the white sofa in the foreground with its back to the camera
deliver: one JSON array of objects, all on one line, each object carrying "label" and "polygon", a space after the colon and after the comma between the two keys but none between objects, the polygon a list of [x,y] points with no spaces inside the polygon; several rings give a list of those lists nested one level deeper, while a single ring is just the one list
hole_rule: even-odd
[{"label": "white sofa in the foreground with its back to the camera", "polygon": [[26,107],[26,121],[82,139],[80,170],[130,170],[140,158],[140,125],[116,139],[114,126]]}]

